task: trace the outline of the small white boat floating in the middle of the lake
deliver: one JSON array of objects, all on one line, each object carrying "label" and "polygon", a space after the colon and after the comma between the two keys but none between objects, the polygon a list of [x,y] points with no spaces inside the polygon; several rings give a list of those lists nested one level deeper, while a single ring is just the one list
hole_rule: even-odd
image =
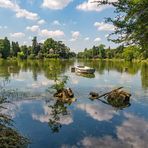
[{"label": "small white boat floating in the middle of the lake", "polygon": [[75,71],[78,73],[93,74],[95,72],[95,69],[87,66],[75,66]]}]

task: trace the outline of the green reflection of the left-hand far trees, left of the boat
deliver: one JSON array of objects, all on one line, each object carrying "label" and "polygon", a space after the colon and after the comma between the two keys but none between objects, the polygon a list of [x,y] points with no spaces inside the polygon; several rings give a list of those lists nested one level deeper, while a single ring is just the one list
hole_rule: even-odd
[{"label": "green reflection of the left-hand far trees, left of the boat", "polygon": [[0,60],[0,77],[8,79],[11,74],[17,75],[21,71],[31,71],[34,80],[43,73],[46,78],[54,80],[56,75],[66,72],[73,60]]}]

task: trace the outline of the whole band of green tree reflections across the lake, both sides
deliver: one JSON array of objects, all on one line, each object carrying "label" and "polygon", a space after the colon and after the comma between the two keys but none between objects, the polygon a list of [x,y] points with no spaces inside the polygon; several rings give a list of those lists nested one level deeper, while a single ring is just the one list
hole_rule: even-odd
[{"label": "whole band of green tree reflections across the lake, both sides", "polygon": [[[141,81],[143,88],[148,87],[147,65],[141,63],[124,61],[104,61],[104,60],[78,60],[80,65],[87,65],[103,74],[104,71],[115,70],[120,73],[126,72],[135,75],[141,70]],[[65,73],[74,60],[0,60],[0,77],[9,80],[10,76],[15,76],[20,71],[30,71],[34,80],[37,80],[39,74],[43,73],[49,80],[55,80],[55,77]]]}]

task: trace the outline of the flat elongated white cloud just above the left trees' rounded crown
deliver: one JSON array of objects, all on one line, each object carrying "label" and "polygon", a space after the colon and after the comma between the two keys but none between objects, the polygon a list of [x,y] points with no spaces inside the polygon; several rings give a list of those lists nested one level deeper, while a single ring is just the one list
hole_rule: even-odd
[{"label": "flat elongated white cloud just above the left trees' rounded crown", "polygon": [[61,30],[49,31],[47,29],[43,29],[40,31],[41,36],[49,36],[49,37],[60,37],[64,36],[64,32]]}]

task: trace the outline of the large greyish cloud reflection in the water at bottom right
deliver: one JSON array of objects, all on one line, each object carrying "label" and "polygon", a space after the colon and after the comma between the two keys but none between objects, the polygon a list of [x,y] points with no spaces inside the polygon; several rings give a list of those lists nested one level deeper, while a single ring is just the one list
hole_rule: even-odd
[{"label": "large greyish cloud reflection in the water at bottom right", "polygon": [[[84,137],[76,143],[75,147],[84,148],[147,148],[148,121],[131,113],[124,113],[125,121],[117,126],[117,137],[110,135],[104,137]],[[69,148],[69,145],[63,145]]]}]

